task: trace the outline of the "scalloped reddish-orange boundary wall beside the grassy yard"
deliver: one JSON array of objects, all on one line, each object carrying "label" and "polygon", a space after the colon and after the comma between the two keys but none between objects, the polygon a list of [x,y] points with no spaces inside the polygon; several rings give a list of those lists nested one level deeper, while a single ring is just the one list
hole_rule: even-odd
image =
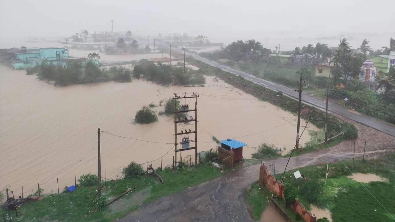
[{"label": "scalloped reddish-orange boundary wall beside the grassy yard", "polygon": [[[267,167],[265,164],[262,164],[262,166],[259,168],[259,184],[266,186],[270,192],[273,194],[284,198],[284,184],[282,184],[280,181],[276,181],[276,178],[273,175],[270,175],[269,171],[267,171]],[[316,215],[312,214],[310,211],[306,211],[305,206],[303,206],[303,203],[299,203],[298,199],[295,199],[295,202],[292,205],[293,211],[297,212],[300,214],[300,216],[306,221],[306,222],[316,222],[317,217]]]}]

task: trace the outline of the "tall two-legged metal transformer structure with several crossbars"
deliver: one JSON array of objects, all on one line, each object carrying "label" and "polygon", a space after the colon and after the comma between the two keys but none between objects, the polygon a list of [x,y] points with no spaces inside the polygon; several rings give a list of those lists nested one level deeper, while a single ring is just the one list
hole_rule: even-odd
[{"label": "tall two-legged metal transformer structure with several crossbars", "polygon": [[[198,166],[198,108],[197,108],[197,103],[198,103],[198,97],[199,95],[196,93],[192,93],[191,96],[178,96],[177,93],[174,93],[174,106],[175,106],[175,112],[174,112],[174,160],[173,160],[173,169],[176,170],[177,169],[177,152],[181,152],[181,151],[188,151],[188,150],[195,150],[195,167]],[[177,100],[180,99],[191,99],[191,98],[195,98],[195,109],[190,109],[187,104],[182,105],[182,109],[179,110],[179,107],[177,107]],[[195,112],[195,118],[193,118],[192,116],[190,116],[189,118],[184,117],[184,119],[182,119],[181,117],[179,117],[178,113],[189,113],[189,112]],[[182,131],[182,129],[180,129],[180,132],[177,132],[177,123],[186,123],[186,122],[195,122],[195,131],[191,131],[189,130],[184,130]],[[187,135],[187,134],[195,134],[195,139],[193,140],[195,142],[195,146],[194,147],[190,147],[189,143],[192,142],[192,140],[189,139],[188,137],[182,138],[181,142],[177,142],[177,136],[179,135]],[[186,144],[187,143],[187,144]],[[181,145],[181,149],[177,149],[177,145]],[[184,146],[184,144],[186,144]],[[180,153],[181,156],[181,153]],[[180,157],[180,161],[181,162],[181,157]]]}]

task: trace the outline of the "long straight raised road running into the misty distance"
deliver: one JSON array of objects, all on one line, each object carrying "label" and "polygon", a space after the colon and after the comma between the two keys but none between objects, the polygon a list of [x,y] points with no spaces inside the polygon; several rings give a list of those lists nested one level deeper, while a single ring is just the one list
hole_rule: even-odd
[{"label": "long straight raised road running into the misty distance", "polygon": [[[176,51],[177,53],[183,53],[182,50],[180,49],[176,49],[175,47],[171,48],[173,51]],[[292,98],[298,99],[299,98],[299,93],[295,92],[294,89],[292,88],[288,88],[286,86],[277,84],[277,83],[272,83],[269,82],[267,80],[255,77],[254,75],[245,73],[243,71],[240,70],[236,70],[233,68],[230,68],[228,66],[222,65],[222,64],[218,64],[215,61],[209,60],[207,58],[203,58],[199,55],[196,55],[194,53],[187,53],[185,52],[185,55],[188,55],[192,58],[195,58],[197,60],[201,60],[202,62],[205,62],[211,66],[220,68],[224,71],[228,71],[234,75],[241,75],[243,76],[245,79],[251,80],[254,83],[257,83],[259,85],[262,85],[266,88],[270,88],[276,91],[281,91],[283,94],[286,94]],[[315,107],[321,108],[324,107],[325,109],[325,103],[323,102],[323,100],[319,100],[316,99],[312,96],[308,96],[306,94],[302,95],[302,101],[304,103],[313,105]],[[381,132],[384,132],[386,134],[395,136],[395,125],[390,124],[388,122],[385,122],[383,120],[380,119],[376,119],[374,117],[365,115],[365,114],[357,114],[357,113],[353,113],[351,112],[349,109],[346,109],[345,107],[343,107],[342,105],[339,105],[337,103],[333,103],[333,102],[328,102],[328,110],[331,111],[332,113],[336,113],[338,115],[341,115],[343,117],[346,117],[348,119],[354,120],[355,122],[359,122],[361,124],[364,124],[366,126],[370,126],[372,128],[375,128],[376,130],[379,130]]]}]

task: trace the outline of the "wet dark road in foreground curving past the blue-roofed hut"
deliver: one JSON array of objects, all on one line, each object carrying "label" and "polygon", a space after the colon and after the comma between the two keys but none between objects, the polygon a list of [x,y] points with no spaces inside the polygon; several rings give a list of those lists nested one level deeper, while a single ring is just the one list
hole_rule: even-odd
[{"label": "wet dark road in foreground curving past the blue-roofed hut", "polygon": [[[373,157],[374,154],[370,154]],[[331,151],[318,151],[293,157],[287,171],[308,165],[324,164],[352,158],[352,153],[333,154]],[[276,173],[284,171],[288,158],[278,158],[265,164],[276,164]],[[241,167],[212,181],[188,188],[184,192],[164,197],[143,205],[139,211],[117,220],[117,222],[215,222],[253,221],[243,192],[259,179],[261,164]],[[278,178],[280,180],[280,178]],[[165,181],[166,182],[166,181]]]}]

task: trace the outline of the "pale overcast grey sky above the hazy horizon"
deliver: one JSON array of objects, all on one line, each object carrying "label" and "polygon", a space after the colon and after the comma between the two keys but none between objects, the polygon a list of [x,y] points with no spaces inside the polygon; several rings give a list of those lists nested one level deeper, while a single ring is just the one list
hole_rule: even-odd
[{"label": "pale overcast grey sky above the hazy horizon", "polygon": [[367,38],[378,48],[395,38],[391,8],[395,0],[0,0],[0,41],[111,30],[114,19],[114,32],[185,32],[225,43],[255,38],[285,48],[317,41],[331,46],[343,34],[354,47]]}]

